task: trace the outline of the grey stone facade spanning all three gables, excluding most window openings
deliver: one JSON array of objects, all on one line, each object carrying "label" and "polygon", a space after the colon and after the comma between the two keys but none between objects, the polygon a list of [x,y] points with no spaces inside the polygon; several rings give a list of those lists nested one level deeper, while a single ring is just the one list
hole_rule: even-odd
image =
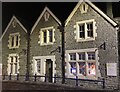
[{"label": "grey stone facade spanning all three gables, excluding most window openings", "polygon": [[[85,6],[84,6],[85,5]],[[80,4],[78,9],[75,11],[74,15],[71,17],[69,22],[65,25],[65,83],[74,86],[76,84],[75,78],[78,76],[79,79],[86,79],[88,81],[78,81],[78,86],[83,88],[95,88],[100,89],[103,87],[102,83],[89,81],[89,80],[99,80],[105,79],[105,88],[117,89],[119,83],[119,53],[118,53],[118,31],[116,27],[103,15],[101,15],[96,9],[91,7],[89,4],[85,3],[84,5]],[[83,6],[83,7],[82,7]],[[81,8],[82,7],[82,8]],[[76,8],[75,8],[76,9]],[[105,15],[106,16],[106,15]],[[68,17],[69,18],[69,17]],[[12,18],[7,31],[2,37],[2,67],[3,74],[8,74],[8,57],[9,54],[18,54],[19,55],[19,74],[25,75],[27,71],[27,64],[29,64],[29,74],[33,76],[35,74],[40,76],[45,76],[47,73],[52,77],[62,77],[62,37],[61,32],[58,29],[61,26],[61,22],[55,17],[55,15],[47,8],[43,10],[35,25],[32,28],[29,46],[27,41],[27,33],[25,28],[21,26],[20,23],[16,23],[16,27],[13,27],[13,21],[16,18]],[[94,39],[92,40],[77,40],[77,23],[85,23],[86,21],[94,22]],[[111,20],[112,21],[112,20]],[[91,23],[91,22],[90,22]],[[48,31],[49,28],[52,28],[52,34]],[[20,34],[20,46],[19,48],[9,49],[8,40],[11,33],[19,32]],[[45,35],[47,34],[47,35]],[[47,38],[46,38],[47,36]],[[43,44],[43,39],[45,41],[50,41],[50,36],[52,36],[52,43]],[[28,48],[29,47],[29,48]],[[29,49],[29,50],[28,50]],[[76,53],[82,51],[95,51],[95,62],[96,65],[96,75],[93,77],[82,77],[79,75],[72,75],[73,79],[69,76],[69,67],[67,63],[69,61],[69,53]],[[28,52],[27,52],[28,51]],[[29,57],[27,55],[29,54]],[[78,57],[77,57],[78,59]],[[27,61],[29,60],[29,61]],[[50,65],[51,62],[51,65]],[[117,64],[117,76],[108,76],[107,75],[107,64],[114,63]],[[69,67],[68,67],[69,66]],[[49,68],[48,68],[49,67]],[[51,70],[50,70],[51,69]],[[49,72],[48,72],[49,71]],[[48,75],[48,76],[49,76]],[[67,79],[68,78],[68,79]],[[24,78],[21,78],[22,80]],[[61,83],[61,79],[57,79],[57,83]],[[34,77],[31,78],[34,80]],[[38,81],[44,81],[44,78],[37,78]],[[48,80],[49,82],[55,82],[54,78]]]}]

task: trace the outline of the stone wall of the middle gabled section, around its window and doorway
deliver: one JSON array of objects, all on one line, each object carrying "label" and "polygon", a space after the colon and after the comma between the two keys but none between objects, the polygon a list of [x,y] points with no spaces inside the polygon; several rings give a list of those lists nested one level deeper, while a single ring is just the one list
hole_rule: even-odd
[{"label": "stone wall of the middle gabled section, around its window and doorway", "polygon": [[[48,12],[49,18],[47,21],[45,21],[44,14],[37,23],[36,27],[34,28],[33,32],[31,33],[31,40],[30,40],[30,63],[31,63],[31,74],[34,74],[33,72],[33,63],[35,62],[33,60],[34,57],[40,58],[41,62],[45,62],[42,66],[44,66],[42,73],[40,75],[45,76],[46,73],[46,59],[52,59],[51,56],[54,56],[54,62],[53,62],[53,76],[56,74],[57,76],[61,76],[61,53],[58,51],[58,48],[61,47],[61,33],[58,29],[58,26],[60,25],[58,22],[56,22],[55,18],[51,15],[48,8],[46,9],[46,12]],[[49,45],[41,45],[40,40],[40,31],[42,28],[48,28],[53,27],[54,28],[54,43]],[[42,67],[41,66],[41,67]]]}]

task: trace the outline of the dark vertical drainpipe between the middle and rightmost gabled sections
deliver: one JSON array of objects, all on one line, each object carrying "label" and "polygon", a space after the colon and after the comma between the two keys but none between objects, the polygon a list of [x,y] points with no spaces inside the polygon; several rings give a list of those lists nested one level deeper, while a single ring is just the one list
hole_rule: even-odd
[{"label": "dark vertical drainpipe between the middle and rightmost gabled sections", "polygon": [[65,83],[65,30],[64,30],[64,24],[58,27],[61,32],[61,41],[62,41],[62,84]]}]

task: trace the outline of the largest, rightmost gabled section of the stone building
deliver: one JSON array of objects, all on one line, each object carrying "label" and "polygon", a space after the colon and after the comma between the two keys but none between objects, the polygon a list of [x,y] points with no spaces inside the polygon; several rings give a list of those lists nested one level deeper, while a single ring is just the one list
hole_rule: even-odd
[{"label": "largest, rightmost gabled section of the stone building", "polygon": [[106,88],[118,88],[118,24],[93,3],[78,2],[68,16],[65,52],[67,78],[104,78]]}]

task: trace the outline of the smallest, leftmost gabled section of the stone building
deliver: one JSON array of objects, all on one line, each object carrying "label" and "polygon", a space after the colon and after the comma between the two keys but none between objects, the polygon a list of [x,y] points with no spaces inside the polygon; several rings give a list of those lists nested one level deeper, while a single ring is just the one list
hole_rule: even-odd
[{"label": "smallest, leftmost gabled section of the stone building", "polygon": [[0,40],[3,75],[24,75],[27,64],[27,29],[13,16]]}]

